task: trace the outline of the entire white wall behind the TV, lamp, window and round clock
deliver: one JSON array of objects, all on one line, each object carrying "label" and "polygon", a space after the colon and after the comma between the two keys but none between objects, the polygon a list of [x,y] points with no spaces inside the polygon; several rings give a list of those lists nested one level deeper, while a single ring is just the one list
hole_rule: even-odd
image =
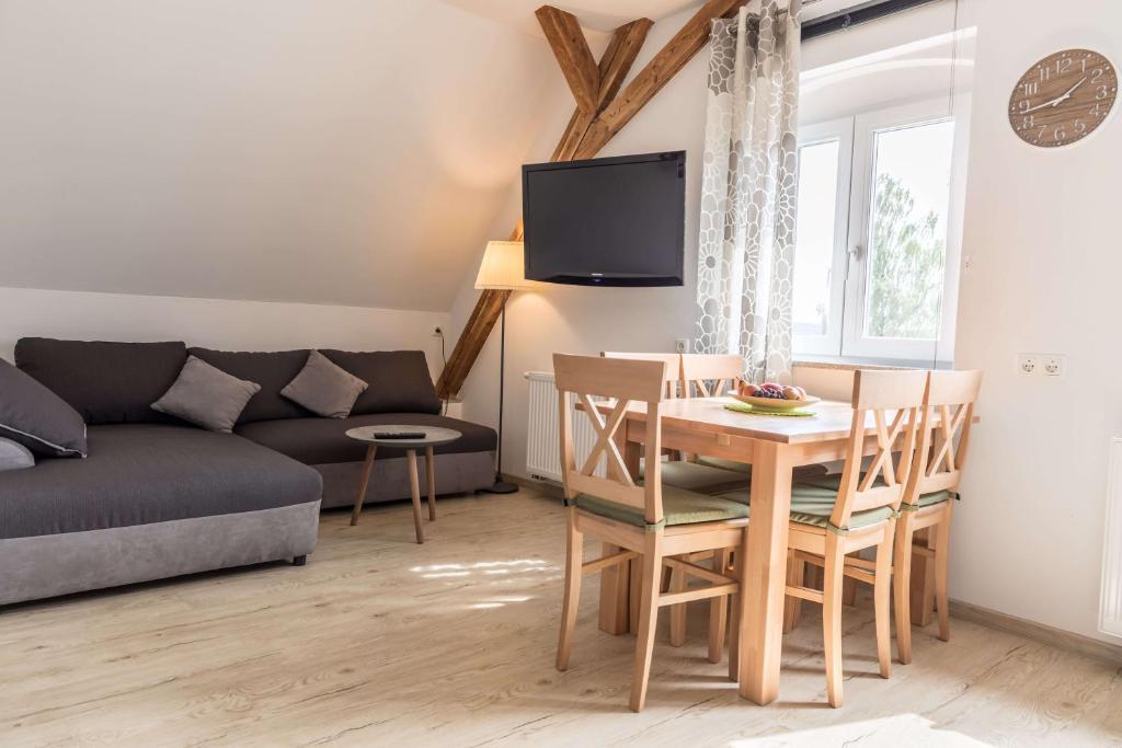
[{"label": "entire white wall behind the TV, lamp, window and round clock", "polygon": [[[946,7],[928,36],[949,30]],[[1015,6],[1015,8],[1013,7]],[[953,7],[951,7],[953,8]],[[642,62],[684,20],[655,25]],[[896,17],[903,22],[908,15]],[[923,20],[925,17],[911,16]],[[1047,22],[1040,22],[1047,19]],[[808,43],[804,66],[907,41],[889,21]],[[959,27],[977,25],[969,184],[959,290],[956,364],[985,370],[982,423],[953,541],[953,597],[1086,636],[1096,631],[1106,440],[1122,434],[1122,349],[1114,342],[1118,169],[1122,122],[1055,153],[1023,145],[1005,104],[1018,77],[1063,47],[1097,48],[1122,63],[1122,4],[1070,0],[962,0]],[[913,35],[914,37],[914,35]],[[604,155],[686,148],[689,158],[687,258],[696,255],[698,160],[705,118],[705,53],[613,141]],[[636,67],[637,68],[637,67]],[[560,75],[552,85],[568,96]],[[544,160],[568,117],[559,99],[552,127],[526,155]],[[504,236],[517,196],[491,230]],[[693,327],[695,269],[668,289],[549,287],[509,306],[505,469],[525,472],[526,388],[521,373],[550,369],[554,351],[672,350]],[[477,298],[465,281],[452,310],[456,331]],[[494,423],[497,334],[465,387],[467,417]],[[1061,381],[1014,373],[1018,351],[1068,355]],[[818,375],[816,375],[818,376]],[[1064,405],[1082,396],[1086,405]]]}]

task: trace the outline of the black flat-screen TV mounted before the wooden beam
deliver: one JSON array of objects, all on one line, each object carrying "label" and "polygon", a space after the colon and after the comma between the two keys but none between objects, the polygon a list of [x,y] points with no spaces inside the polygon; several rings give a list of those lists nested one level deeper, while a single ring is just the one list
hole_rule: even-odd
[{"label": "black flat-screen TV mounted before the wooden beam", "polygon": [[526,277],[681,286],[686,151],[522,167]]}]

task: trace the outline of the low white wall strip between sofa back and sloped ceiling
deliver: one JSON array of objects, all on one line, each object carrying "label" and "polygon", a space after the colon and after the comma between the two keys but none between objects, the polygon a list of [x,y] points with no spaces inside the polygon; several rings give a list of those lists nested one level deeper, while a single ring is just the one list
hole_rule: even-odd
[{"label": "low white wall strip between sofa back and sloped ceiling", "polygon": [[182,340],[220,350],[424,350],[440,372],[444,312],[228,302],[70,290],[0,288],[0,358],[25,336],[75,340]]}]

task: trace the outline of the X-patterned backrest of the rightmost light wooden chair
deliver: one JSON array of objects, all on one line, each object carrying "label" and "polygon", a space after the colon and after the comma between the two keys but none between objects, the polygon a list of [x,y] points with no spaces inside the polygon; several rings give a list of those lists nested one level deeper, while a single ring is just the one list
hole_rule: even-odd
[{"label": "X-patterned backrest of the rightmost light wooden chair", "polygon": [[981,371],[930,372],[907,504],[925,493],[958,490],[981,389]]}]

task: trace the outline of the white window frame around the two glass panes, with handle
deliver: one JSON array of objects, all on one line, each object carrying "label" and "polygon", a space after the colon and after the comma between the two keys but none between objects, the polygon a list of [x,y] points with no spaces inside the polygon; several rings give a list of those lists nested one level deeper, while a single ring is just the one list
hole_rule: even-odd
[{"label": "white window frame around the two glass panes, with handle", "polygon": [[[951,105],[953,101],[953,105]],[[969,96],[957,95],[895,104],[856,112],[853,116],[804,124],[799,128],[799,147],[830,139],[829,133],[849,132],[848,168],[842,163],[845,139],[838,154],[837,215],[835,216],[835,268],[831,306],[826,335],[793,335],[795,357],[816,360],[900,362],[949,362],[954,358],[958,306],[958,275],[962,258],[962,215],[965,195],[969,132]],[[950,194],[947,205],[946,257],[944,261],[942,313],[938,340],[870,338],[864,335],[868,281],[868,237],[876,173],[877,131],[916,127],[940,121],[954,122]],[[845,173],[846,178],[842,175]],[[845,194],[840,190],[846,187]],[[798,283],[798,278],[795,278]],[[840,301],[838,301],[840,299]],[[835,327],[840,324],[840,330]]]}]

